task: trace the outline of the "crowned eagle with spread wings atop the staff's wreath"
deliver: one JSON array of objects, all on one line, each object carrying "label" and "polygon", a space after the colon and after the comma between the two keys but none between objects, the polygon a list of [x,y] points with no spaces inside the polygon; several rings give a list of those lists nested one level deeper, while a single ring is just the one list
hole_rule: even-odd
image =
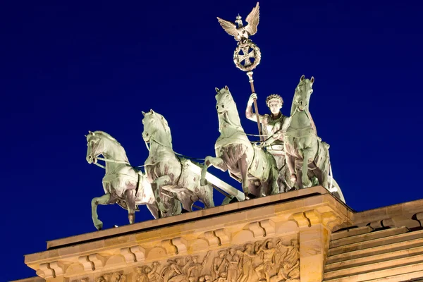
[{"label": "crowned eagle with spread wings atop the staff's wreath", "polygon": [[251,13],[245,19],[248,25],[243,26],[243,20],[241,20],[240,15],[236,17],[235,23],[238,23],[238,28],[235,23],[232,23],[228,20],[223,20],[217,18],[223,30],[228,32],[229,35],[235,37],[236,41],[245,42],[248,37],[255,35],[257,32],[257,25],[259,25],[259,2],[257,5],[252,8]]}]

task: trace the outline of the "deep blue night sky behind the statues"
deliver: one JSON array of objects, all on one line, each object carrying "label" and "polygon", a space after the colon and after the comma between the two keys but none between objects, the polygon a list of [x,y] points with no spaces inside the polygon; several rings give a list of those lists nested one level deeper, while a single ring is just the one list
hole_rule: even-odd
[{"label": "deep blue night sky behind the statues", "polygon": [[[1,281],[35,275],[23,255],[45,250],[46,240],[95,231],[90,201],[103,193],[104,171],[85,161],[88,130],[116,137],[137,166],[147,158],[141,111],[154,109],[167,118],[176,152],[214,155],[214,87],[228,85],[245,131],[257,132],[243,116],[250,85],[233,65],[235,40],[216,20],[245,19],[254,0],[58,3],[0,9],[1,259],[9,266]],[[310,111],[357,211],[423,198],[422,8],[260,3],[252,37],[262,50],[259,111],[276,92],[288,115],[300,76],[314,75]],[[145,207],[136,216],[152,218]],[[118,206],[99,207],[99,218],[105,228],[128,221]]]}]

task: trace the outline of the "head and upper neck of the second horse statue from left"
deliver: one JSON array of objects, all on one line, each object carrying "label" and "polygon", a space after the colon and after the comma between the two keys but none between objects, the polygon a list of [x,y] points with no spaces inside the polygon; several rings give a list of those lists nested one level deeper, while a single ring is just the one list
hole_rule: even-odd
[{"label": "head and upper neck of the second horse statue from left", "polygon": [[163,145],[165,142],[166,147],[171,147],[172,136],[171,129],[168,126],[166,118],[161,114],[154,112],[153,110],[147,113],[142,112],[144,118],[142,118],[142,124],[144,125],[144,131],[142,131],[142,139],[148,143],[155,140]]}]

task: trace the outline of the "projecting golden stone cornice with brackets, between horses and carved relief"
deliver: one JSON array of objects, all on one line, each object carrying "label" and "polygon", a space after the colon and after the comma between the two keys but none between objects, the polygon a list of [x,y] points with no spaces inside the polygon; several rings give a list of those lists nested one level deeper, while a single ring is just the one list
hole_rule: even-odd
[{"label": "projecting golden stone cornice with brackets, between horses and carved relief", "polygon": [[345,204],[314,187],[54,240],[48,243],[50,250],[26,255],[25,264],[45,278],[63,275],[71,264],[84,271],[105,271],[113,259],[113,267],[148,263],[195,254],[202,251],[199,244],[217,250],[245,240],[295,234],[309,226],[332,231],[352,218]]}]

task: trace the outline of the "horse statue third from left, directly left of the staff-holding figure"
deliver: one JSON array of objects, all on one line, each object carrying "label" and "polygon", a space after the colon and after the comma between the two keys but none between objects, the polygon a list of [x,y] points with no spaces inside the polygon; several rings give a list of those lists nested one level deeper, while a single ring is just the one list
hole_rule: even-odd
[{"label": "horse statue third from left, directly left of the staff-holding figure", "polygon": [[219,117],[219,132],[214,149],[216,157],[206,157],[202,169],[202,183],[209,166],[229,171],[235,180],[242,183],[245,196],[274,195],[278,188],[278,168],[274,157],[263,149],[253,146],[240,123],[235,101],[228,87],[216,88],[216,110]]}]

